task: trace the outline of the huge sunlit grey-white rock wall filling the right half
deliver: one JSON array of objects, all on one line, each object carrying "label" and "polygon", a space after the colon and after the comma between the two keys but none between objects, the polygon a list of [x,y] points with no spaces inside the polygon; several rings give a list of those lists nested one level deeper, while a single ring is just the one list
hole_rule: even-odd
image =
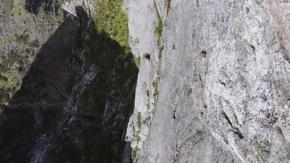
[{"label": "huge sunlit grey-white rock wall filling the right half", "polygon": [[289,162],[290,1],[126,3],[134,162]]}]

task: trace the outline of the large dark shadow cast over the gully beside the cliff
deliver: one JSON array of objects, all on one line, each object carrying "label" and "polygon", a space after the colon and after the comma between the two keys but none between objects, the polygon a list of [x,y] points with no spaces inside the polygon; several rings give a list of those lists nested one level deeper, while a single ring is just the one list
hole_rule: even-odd
[{"label": "large dark shadow cast over the gully beside the cliff", "polygon": [[[30,2],[30,9],[38,6]],[[93,22],[88,27],[83,8],[78,12],[42,46],[21,88],[3,106],[0,163],[121,163],[131,153],[124,151],[124,134],[138,68],[118,42],[98,33]],[[85,83],[92,66],[98,74]],[[108,101],[112,109],[105,116]]]}]

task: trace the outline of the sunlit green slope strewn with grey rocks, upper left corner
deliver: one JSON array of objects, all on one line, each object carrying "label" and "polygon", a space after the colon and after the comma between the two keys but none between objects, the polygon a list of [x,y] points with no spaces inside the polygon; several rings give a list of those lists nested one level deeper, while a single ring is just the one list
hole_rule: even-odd
[{"label": "sunlit green slope strewn with grey rocks, upper left corner", "polygon": [[[50,25],[56,28],[63,20],[62,10],[45,13],[41,8],[35,15],[29,13],[26,5],[26,0],[0,2],[0,28],[4,33],[0,36],[0,104],[7,104],[20,88],[43,41],[55,30]],[[49,19],[46,21],[46,18]],[[41,23],[40,19],[43,19]],[[6,48],[8,46],[9,50]]]}]

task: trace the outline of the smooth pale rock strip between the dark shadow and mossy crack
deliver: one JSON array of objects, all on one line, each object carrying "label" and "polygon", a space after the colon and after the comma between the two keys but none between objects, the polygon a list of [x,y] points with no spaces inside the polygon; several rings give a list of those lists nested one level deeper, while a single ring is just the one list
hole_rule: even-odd
[{"label": "smooth pale rock strip between the dark shadow and mossy crack", "polygon": [[[141,58],[136,86],[135,109],[129,120],[126,140],[132,148],[142,149],[148,136],[154,108],[154,86],[158,70],[158,46],[155,26],[157,15],[151,0],[127,0],[124,8],[129,15],[129,43],[132,54]],[[146,15],[146,16],[145,16]],[[150,54],[150,59],[143,55]],[[140,120],[138,121],[138,114]]]}]

